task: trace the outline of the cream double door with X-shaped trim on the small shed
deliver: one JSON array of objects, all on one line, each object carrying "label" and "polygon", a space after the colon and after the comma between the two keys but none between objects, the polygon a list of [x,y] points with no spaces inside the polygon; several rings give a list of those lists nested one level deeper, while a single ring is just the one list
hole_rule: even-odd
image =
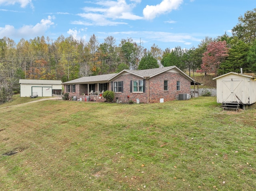
[{"label": "cream double door with X-shaped trim on the small shed", "polygon": [[222,102],[242,103],[243,80],[222,81]]}]

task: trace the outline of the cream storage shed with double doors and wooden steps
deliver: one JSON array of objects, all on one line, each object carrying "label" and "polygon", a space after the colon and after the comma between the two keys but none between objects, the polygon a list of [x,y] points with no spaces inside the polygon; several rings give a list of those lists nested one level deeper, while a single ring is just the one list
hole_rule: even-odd
[{"label": "cream storage shed with double doors and wooden steps", "polygon": [[250,105],[256,102],[256,79],[235,72],[214,78],[217,85],[218,103]]}]

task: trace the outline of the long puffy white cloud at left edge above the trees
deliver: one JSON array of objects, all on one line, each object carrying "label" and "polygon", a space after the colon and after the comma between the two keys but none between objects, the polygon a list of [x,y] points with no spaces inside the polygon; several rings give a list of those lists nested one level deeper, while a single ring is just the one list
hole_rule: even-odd
[{"label": "long puffy white cloud at left edge above the trees", "polygon": [[35,26],[25,25],[22,28],[15,29],[14,26],[6,25],[3,28],[0,27],[0,38],[4,36],[10,38],[34,38],[35,36],[44,35],[44,32],[53,24],[52,17],[48,16],[47,19],[42,19]]}]

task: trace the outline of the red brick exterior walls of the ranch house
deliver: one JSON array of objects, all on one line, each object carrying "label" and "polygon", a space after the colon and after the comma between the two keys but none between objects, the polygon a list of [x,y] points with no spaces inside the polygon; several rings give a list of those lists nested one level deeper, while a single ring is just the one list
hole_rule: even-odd
[{"label": "red brick exterior walls of the ranch house", "polygon": [[[176,99],[179,94],[190,94],[190,81],[183,77],[180,73],[164,72],[156,75],[149,79],[149,91],[148,91],[148,80],[146,79],[145,93],[131,93],[130,92],[130,81],[131,80],[143,80],[143,78],[137,77],[132,74],[124,74],[120,77],[114,79],[114,81],[123,81],[123,93],[115,93],[114,102],[116,99],[122,99],[122,102],[127,103],[130,100],[136,102],[137,98],[140,99],[140,103],[148,102],[148,92],[149,92],[149,102],[160,102],[160,98],[164,98],[164,102],[172,101]],[[164,80],[168,81],[168,91],[164,91]],[[180,81],[180,91],[176,90],[176,83]],[[70,85],[70,90],[72,91],[72,85]],[[108,90],[110,87],[108,85]],[[64,85],[64,93],[67,92],[67,85]],[[69,93],[69,98],[72,96],[77,96],[77,99],[82,98],[84,101],[86,95],[82,93],[87,93],[87,84],[76,84],[76,93]],[[98,96],[97,100],[98,100]]]}]

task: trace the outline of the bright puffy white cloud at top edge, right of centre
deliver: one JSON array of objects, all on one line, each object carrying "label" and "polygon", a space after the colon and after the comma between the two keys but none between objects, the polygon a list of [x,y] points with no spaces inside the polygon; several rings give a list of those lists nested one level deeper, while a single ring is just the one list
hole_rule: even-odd
[{"label": "bright puffy white cloud at top edge, right of centre", "polygon": [[178,9],[183,0],[163,0],[157,5],[147,5],[143,10],[144,18],[152,20],[160,14],[171,12],[172,10]]}]

